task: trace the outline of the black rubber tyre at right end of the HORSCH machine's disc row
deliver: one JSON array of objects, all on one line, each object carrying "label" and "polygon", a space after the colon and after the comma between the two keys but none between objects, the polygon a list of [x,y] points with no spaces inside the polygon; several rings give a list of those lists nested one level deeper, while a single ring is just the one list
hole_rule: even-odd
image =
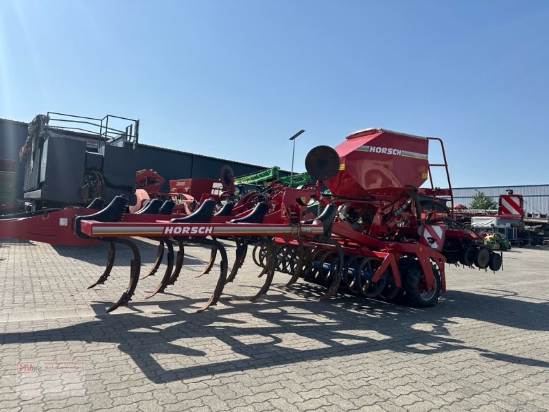
[{"label": "black rubber tyre at right end of the HORSCH machine's disc row", "polygon": [[410,258],[403,258],[399,261],[399,266],[402,260],[406,260],[402,266],[408,266],[407,271],[401,271],[403,273],[402,288],[404,288],[410,304],[420,308],[434,306],[441,295],[441,274],[439,269],[432,265],[435,285],[433,290],[428,291],[425,275],[419,262]]}]

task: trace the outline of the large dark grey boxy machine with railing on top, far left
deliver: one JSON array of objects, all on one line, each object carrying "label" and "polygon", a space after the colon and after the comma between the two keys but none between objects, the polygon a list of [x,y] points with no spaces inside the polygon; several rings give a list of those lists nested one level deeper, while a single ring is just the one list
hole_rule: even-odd
[{"label": "large dark grey boxy machine with railing on top, far left", "polygon": [[86,205],[96,197],[110,202],[117,195],[135,204],[139,120],[48,112],[28,129],[19,154],[28,211]]}]

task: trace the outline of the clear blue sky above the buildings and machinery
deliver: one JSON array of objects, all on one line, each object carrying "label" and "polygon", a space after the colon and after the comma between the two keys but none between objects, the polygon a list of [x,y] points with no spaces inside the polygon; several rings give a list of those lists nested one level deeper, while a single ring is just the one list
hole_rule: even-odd
[{"label": "clear blue sky above the buildings and machinery", "polygon": [[549,1],[0,0],[0,117],[47,111],[285,170],[303,128],[297,172],[379,126],[441,137],[454,187],[547,184]]}]

